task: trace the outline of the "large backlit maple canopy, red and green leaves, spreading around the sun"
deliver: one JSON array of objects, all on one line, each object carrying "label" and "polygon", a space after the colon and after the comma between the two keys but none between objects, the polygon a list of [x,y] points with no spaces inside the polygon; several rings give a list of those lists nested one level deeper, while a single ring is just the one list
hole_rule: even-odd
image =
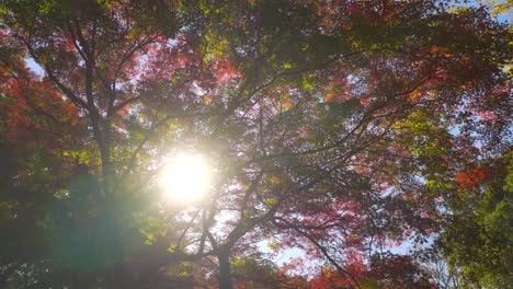
[{"label": "large backlit maple canopy, red and green leaves, spreading around the sun", "polygon": [[[8,288],[164,287],[183,266],[232,288],[237,261],[271,236],[361,287],[376,252],[440,228],[476,141],[483,153],[509,149],[511,35],[485,8],[4,1],[0,11],[1,149],[14,157],[2,228],[45,235],[2,241],[13,247],[0,255]],[[217,167],[208,197],[189,207],[164,204],[156,185],[160,155],[181,150]]]}]

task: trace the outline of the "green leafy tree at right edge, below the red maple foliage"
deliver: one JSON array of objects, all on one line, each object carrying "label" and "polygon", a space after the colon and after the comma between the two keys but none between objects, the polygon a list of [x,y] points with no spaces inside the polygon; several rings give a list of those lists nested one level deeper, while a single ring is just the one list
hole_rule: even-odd
[{"label": "green leafy tree at right edge, below the red maple foliage", "polygon": [[472,288],[511,284],[511,152],[457,175],[459,194],[441,242],[452,269]]}]

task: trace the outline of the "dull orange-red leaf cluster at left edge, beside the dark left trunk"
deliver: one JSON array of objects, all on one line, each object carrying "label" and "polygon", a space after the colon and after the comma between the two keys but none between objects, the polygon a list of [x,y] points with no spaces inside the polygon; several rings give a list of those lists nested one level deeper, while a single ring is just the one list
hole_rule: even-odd
[{"label": "dull orange-red leaf cluster at left edge, beside the dark left trunk", "polygon": [[[23,73],[22,73],[23,72]],[[84,123],[77,107],[56,92],[47,78],[21,71],[23,78],[3,78],[0,131],[3,140],[48,152],[77,137]],[[66,124],[64,126],[62,124]]]}]

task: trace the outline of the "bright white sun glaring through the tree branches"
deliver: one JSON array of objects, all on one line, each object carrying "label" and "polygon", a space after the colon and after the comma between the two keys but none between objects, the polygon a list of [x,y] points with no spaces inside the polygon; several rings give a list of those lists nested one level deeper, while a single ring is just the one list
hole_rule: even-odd
[{"label": "bright white sun glaring through the tree branches", "polygon": [[210,187],[210,167],[202,154],[179,153],[164,161],[158,184],[172,201],[197,201]]}]

